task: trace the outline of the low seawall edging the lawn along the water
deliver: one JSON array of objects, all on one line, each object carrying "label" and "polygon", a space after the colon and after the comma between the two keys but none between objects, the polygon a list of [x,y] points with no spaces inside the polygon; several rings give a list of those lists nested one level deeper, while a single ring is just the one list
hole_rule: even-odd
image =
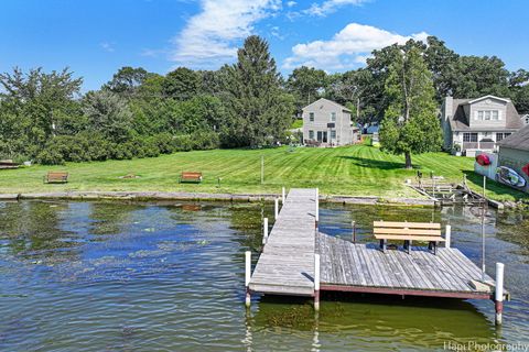
[{"label": "low seawall edging the lawn along the water", "polygon": [[[35,194],[0,194],[0,200],[25,199],[71,199],[71,200],[187,200],[187,201],[231,201],[257,202],[273,201],[281,198],[280,194],[208,194],[180,191],[56,191]],[[320,196],[320,201],[344,205],[366,206],[408,206],[435,207],[432,199],[421,198],[382,198],[376,196]]]}]

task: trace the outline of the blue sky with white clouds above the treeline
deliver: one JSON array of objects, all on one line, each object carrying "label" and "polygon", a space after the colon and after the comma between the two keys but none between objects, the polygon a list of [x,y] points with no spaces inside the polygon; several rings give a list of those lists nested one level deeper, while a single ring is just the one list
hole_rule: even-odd
[{"label": "blue sky with white clouds above the treeline", "polygon": [[0,72],[69,66],[84,90],[121,66],[218,68],[249,34],[270,42],[284,75],[357,68],[373,48],[428,34],[529,69],[525,0],[2,0],[0,13]]}]

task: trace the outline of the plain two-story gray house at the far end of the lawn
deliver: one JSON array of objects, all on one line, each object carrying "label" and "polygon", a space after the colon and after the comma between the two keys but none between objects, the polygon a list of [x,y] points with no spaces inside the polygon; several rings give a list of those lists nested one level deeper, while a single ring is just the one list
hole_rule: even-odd
[{"label": "plain two-story gray house at the far end of the lawn", "polygon": [[350,110],[337,102],[321,98],[303,108],[305,145],[352,144],[357,140],[356,130],[350,122]]}]

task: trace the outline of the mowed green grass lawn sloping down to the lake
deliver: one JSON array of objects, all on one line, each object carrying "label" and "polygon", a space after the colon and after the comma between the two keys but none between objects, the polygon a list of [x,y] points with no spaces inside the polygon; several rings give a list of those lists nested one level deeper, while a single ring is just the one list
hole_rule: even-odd
[{"label": "mowed green grass lawn sloping down to the lake", "polygon": [[[264,184],[260,183],[261,156]],[[447,180],[462,182],[466,174],[471,187],[479,189],[482,177],[473,173],[474,161],[444,153],[412,157],[425,176],[431,170]],[[66,185],[45,185],[47,170],[67,170]],[[202,172],[202,184],[179,184],[182,170]],[[122,179],[134,174],[140,178]],[[64,166],[32,166],[0,170],[0,193],[42,193],[64,190],[159,190],[203,193],[280,193],[285,187],[320,187],[325,195],[419,197],[404,186],[415,169],[403,168],[403,157],[381,153],[377,147],[355,145],[336,148],[289,147],[267,150],[215,150],[175,153],[154,158],[68,163]],[[217,179],[222,178],[220,187]],[[488,196],[516,200],[527,195],[488,183]]]}]

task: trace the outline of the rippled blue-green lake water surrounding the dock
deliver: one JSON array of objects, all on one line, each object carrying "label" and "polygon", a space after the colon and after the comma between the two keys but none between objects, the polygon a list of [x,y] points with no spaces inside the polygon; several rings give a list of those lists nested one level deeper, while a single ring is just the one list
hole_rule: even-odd
[{"label": "rippled blue-green lake water surrounding the dock", "polygon": [[[271,205],[0,202],[0,350],[443,350],[529,343],[529,216],[486,218],[487,271],[506,264],[504,326],[483,300],[255,297],[244,306],[244,252],[257,253]],[[479,211],[322,205],[321,231],[358,238],[374,220],[441,221],[481,261]],[[257,255],[253,255],[257,260]]]}]

